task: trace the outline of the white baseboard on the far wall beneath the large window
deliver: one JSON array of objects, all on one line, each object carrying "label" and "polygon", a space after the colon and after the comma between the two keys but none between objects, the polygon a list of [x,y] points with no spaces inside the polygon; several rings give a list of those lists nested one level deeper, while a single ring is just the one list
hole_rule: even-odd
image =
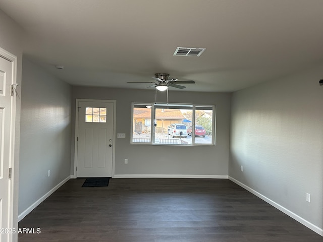
[{"label": "white baseboard on the far wall beneath the large window", "polygon": [[113,178],[205,178],[228,179],[228,175],[183,175],[183,174],[115,174]]}]

